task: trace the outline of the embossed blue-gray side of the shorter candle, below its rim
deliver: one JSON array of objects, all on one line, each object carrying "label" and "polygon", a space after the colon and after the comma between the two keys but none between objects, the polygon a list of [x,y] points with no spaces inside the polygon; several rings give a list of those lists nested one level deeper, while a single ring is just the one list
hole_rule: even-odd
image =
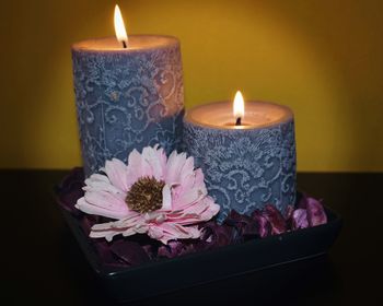
[{"label": "embossed blue-gray side of the shorter candle, below its rim", "polygon": [[221,205],[220,222],[231,210],[251,214],[272,203],[285,213],[294,202],[293,120],[258,130],[219,130],[185,121],[184,142]]}]

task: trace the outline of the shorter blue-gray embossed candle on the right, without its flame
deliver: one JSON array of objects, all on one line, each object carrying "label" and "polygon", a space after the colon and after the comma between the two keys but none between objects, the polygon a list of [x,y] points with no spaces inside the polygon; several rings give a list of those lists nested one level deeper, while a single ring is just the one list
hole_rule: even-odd
[{"label": "shorter blue-gray embossed candle on the right, without its flame", "polygon": [[184,145],[221,207],[218,221],[231,210],[251,214],[267,203],[285,213],[295,198],[293,114],[285,106],[246,102],[237,115],[232,105],[197,106],[184,118]]}]

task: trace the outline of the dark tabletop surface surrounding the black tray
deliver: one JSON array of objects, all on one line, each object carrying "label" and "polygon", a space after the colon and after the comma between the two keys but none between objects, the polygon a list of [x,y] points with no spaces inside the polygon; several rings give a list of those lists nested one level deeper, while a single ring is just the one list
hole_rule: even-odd
[{"label": "dark tabletop surface surrounding the black tray", "polygon": [[[59,208],[66,170],[0,170],[2,305],[111,305]],[[344,219],[327,256],[138,302],[140,305],[383,305],[383,174],[298,175]],[[166,275],[159,275],[161,278]],[[5,286],[4,286],[5,284]],[[247,302],[247,303],[244,303]]]}]

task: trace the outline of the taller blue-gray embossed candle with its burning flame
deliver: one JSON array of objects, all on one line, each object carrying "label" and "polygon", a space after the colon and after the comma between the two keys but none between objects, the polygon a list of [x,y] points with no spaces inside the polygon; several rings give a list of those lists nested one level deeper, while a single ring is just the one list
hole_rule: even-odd
[{"label": "taller blue-gray embossed candle with its burning flame", "polygon": [[159,143],[178,148],[184,113],[179,42],[127,35],[115,8],[116,37],[72,46],[73,79],[85,175],[106,160]]}]

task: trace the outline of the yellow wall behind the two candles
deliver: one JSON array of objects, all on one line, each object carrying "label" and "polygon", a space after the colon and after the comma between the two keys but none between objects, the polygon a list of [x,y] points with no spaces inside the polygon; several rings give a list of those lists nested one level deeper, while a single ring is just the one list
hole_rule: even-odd
[{"label": "yellow wall behind the two candles", "polygon": [[[70,45],[114,35],[114,0],[1,3],[0,168],[81,164]],[[383,170],[383,1],[118,1],[128,33],[182,42],[186,107],[272,101],[299,170]]]}]

